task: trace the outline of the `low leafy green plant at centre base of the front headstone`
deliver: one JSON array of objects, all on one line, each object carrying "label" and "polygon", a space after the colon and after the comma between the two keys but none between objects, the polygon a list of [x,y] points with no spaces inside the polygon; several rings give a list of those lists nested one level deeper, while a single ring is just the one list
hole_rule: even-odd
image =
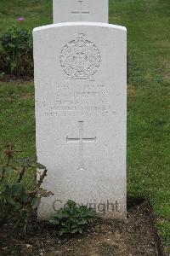
[{"label": "low leafy green plant at centre base of the front headstone", "polygon": [[59,236],[82,233],[83,228],[93,223],[97,218],[96,212],[86,206],[79,206],[74,201],[67,201],[64,208],[55,212],[49,222],[56,225]]}]

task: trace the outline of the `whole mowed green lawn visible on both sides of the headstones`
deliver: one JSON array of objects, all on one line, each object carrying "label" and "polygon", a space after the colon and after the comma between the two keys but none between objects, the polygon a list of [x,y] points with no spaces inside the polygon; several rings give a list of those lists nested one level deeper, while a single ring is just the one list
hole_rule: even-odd
[{"label": "whole mowed green lawn visible on both sides of the headstones", "polygon": [[[51,0],[1,0],[0,33],[52,22]],[[111,0],[110,22],[127,26],[129,55],[127,192],[148,198],[170,253],[170,1]],[[1,74],[1,73],[0,73]],[[0,148],[11,142],[34,155],[34,86],[0,83]],[[1,154],[3,160],[3,154]],[[26,177],[31,183],[31,177]]]}]

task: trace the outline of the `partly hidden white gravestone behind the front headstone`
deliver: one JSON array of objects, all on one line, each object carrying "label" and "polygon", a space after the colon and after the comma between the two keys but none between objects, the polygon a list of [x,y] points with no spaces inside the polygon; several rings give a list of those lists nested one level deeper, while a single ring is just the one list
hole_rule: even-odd
[{"label": "partly hidden white gravestone behind the front headstone", "polygon": [[53,0],[54,23],[92,21],[108,23],[109,0]]}]

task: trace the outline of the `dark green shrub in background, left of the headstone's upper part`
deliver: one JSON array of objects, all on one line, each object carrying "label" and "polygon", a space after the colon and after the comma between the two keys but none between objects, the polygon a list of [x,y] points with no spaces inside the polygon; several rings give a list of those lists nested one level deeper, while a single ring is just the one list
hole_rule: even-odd
[{"label": "dark green shrub in background, left of the headstone's upper part", "polygon": [[17,78],[33,75],[33,44],[26,28],[12,26],[0,37],[0,73]]}]

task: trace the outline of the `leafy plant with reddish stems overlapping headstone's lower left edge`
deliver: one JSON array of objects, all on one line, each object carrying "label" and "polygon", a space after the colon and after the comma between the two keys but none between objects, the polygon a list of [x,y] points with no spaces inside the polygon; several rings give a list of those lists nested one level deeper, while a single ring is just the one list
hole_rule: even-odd
[{"label": "leafy plant with reddish stems overlapping headstone's lower left edge", "polygon": [[[31,214],[39,206],[41,198],[53,195],[41,188],[47,169],[35,160],[17,159],[14,154],[20,151],[14,150],[13,145],[6,145],[6,162],[0,166],[0,223],[11,219],[15,227],[24,224],[25,229]],[[39,181],[35,182],[32,190],[27,189],[23,182],[26,172],[30,168],[42,170]]]}]

